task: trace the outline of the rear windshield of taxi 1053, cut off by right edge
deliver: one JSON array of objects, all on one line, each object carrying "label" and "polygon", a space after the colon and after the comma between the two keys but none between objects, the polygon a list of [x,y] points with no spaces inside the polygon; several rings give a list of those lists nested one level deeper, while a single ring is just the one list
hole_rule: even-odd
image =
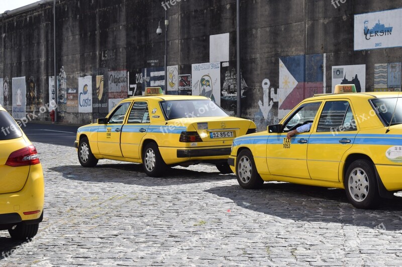
[{"label": "rear windshield of taxi 1053, cut off by right edge", "polygon": [[385,126],[402,123],[402,98],[376,98],[371,103]]}]

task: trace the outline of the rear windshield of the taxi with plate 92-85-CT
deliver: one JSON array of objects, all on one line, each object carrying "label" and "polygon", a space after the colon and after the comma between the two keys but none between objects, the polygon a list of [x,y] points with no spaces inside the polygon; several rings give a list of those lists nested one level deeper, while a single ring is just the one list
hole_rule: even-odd
[{"label": "rear windshield of the taxi with plate 92-85-CT", "polygon": [[229,116],[214,101],[173,100],[162,101],[161,106],[168,120],[177,118],[227,117]]}]

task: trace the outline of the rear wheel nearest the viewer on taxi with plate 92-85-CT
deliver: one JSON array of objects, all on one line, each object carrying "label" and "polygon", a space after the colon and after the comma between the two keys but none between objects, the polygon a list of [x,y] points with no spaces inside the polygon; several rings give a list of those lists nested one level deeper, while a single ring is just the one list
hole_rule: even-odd
[{"label": "rear wheel nearest the viewer on taxi with plate 92-85-CT", "polygon": [[163,161],[156,143],[148,143],[145,146],[142,155],[142,165],[145,173],[151,177],[160,177],[167,169],[167,165]]}]

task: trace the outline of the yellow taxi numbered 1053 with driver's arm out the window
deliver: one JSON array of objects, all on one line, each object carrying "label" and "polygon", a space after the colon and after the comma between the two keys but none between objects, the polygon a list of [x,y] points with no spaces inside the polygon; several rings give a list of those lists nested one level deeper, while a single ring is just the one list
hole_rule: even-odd
[{"label": "yellow taxi numbered 1053 with driver's arm out the window", "polygon": [[337,85],[267,131],[235,138],[228,163],[239,184],[342,188],[357,208],[402,190],[402,94],[355,92],[354,85]]}]

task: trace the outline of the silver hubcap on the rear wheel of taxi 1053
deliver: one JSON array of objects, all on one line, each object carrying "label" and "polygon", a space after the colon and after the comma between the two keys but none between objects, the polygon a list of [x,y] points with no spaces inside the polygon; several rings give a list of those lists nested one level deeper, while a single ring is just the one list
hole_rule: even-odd
[{"label": "silver hubcap on the rear wheel of taxi 1053", "polygon": [[366,199],[369,182],[366,172],[361,168],[355,168],[349,175],[349,193],[356,202]]}]

